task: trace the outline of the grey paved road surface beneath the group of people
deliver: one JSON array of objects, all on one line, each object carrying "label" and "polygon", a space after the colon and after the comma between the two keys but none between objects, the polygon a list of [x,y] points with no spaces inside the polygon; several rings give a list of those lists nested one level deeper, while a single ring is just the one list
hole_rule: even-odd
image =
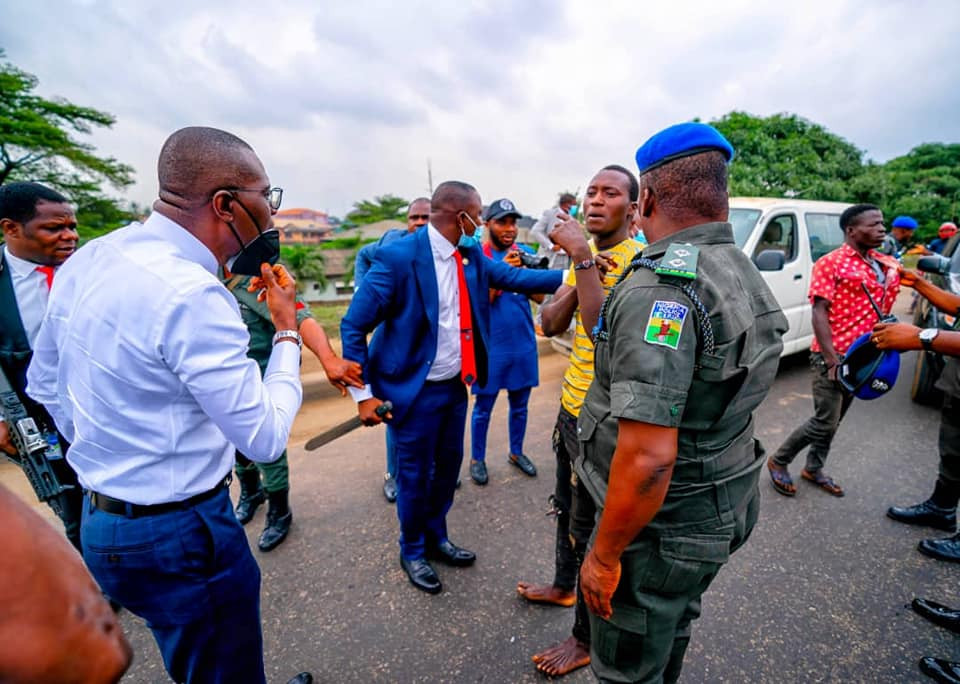
[{"label": "grey paved road surface beneath the group of people", "polygon": [[[855,403],[834,442],[828,472],[845,498],[800,482],[787,499],[763,475],[760,522],[705,596],[684,682],[922,681],[921,655],[960,657],[955,636],[909,609],[916,595],[960,605],[960,567],[915,551],[935,532],[883,515],[891,503],[929,494],[936,469],[938,413],[909,401],[913,355],[903,360],[893,392]],[[294,528],[277,550],[258,554],[269,681],[301,669],[322,682],[543,679],[530,655],[569,634],[572,611],[528,605],[515,586],[552,577],[553,522],[544,511],[564,365],[558,354],[542,357],[531,402],[526,448],[540,476],[505,461],[504,399],[490,436],[490,484],[474,486],[464,465],[451,537],[479,560],[441,567],[444,592],[436,597],[410,587],[398,565],[394,509],[380,494],[382,433],[358,430],[312,453],[292,448]],[[343,407],[332,401],[316,399],[304,411],[335,416]],[[810,410],[805,359],[787,359],[758,414],[767,448]],[[249,525],[252,544],[263,515]],[[129,614],[123,623],[136,651],[124,681],[166,681],[149,632]],[[593,678],[584,670],[566,681]]]}]

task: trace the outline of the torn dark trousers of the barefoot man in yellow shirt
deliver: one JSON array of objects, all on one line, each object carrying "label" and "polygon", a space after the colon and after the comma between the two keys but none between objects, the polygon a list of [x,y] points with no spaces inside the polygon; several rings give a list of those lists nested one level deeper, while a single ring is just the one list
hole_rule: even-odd
[{"label": "torn dark trousers of the barefoot man in yellow shirt", "polygon": [[590,616],[577,576],[593,534],[597,509],[573,470],[579,449],[577,417],[561,407],[553,428],[553,452],[557,457],[557,482],[553,492],[553,505],[557,509],[557,558],[553,586],[564,591],[576,588],[573,636],[589,645]]}]

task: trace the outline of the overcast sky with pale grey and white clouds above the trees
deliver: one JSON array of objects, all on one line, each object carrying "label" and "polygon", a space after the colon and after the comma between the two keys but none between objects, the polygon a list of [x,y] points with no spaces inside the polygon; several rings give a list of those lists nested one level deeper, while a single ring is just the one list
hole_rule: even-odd
[{"label": "overcast sky with pale grey and white clouds above the trees", "polygon": [[46,2],[0,6],[39,92],[114,114],[91,140],[156,196],[163,140],[227,129],[284,207],[473,183],[528,214],[658,129],[792,112],[885,161],[960,142],[960,2]]}]

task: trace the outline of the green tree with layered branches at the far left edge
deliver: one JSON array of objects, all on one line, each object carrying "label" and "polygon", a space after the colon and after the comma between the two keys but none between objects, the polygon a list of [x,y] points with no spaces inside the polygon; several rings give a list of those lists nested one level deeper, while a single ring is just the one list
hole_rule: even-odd
[{"label": "green tree with layered branches at the far left edge", "polygon": [[[5,54],[0,50],[0,59]],[[83,228],[105,232],[129,221],[130,207],[103,195],[103,186],[122,190],[133,183],[133,169],[96,153],[76,134],[94,126],[111,127],[112,115],[61,98],[36,95],[37,78],[0,61],[0,185],[31,180],[66,194],[76,205]],[[83,230],[83,228],[81,228]]]}]

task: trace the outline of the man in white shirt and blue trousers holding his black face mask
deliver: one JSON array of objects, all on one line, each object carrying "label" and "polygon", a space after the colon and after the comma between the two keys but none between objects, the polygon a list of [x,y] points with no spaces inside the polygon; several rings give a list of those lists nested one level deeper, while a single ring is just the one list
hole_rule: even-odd
[{"label": "man in white shirt and blue trousers holding his black face mask", "polygon": [[[150,218],[58,273],[27,391],[72,443],[87,566],[147,621],[170,677],[263,682],[260,570],[227,484],[234,447],[276,459],[300,407],[294,282],[270,265],[281,191],[213,128],[175,132],[158,167]],[[278,330],[262,380],[219,265],[259,269]]]}]

